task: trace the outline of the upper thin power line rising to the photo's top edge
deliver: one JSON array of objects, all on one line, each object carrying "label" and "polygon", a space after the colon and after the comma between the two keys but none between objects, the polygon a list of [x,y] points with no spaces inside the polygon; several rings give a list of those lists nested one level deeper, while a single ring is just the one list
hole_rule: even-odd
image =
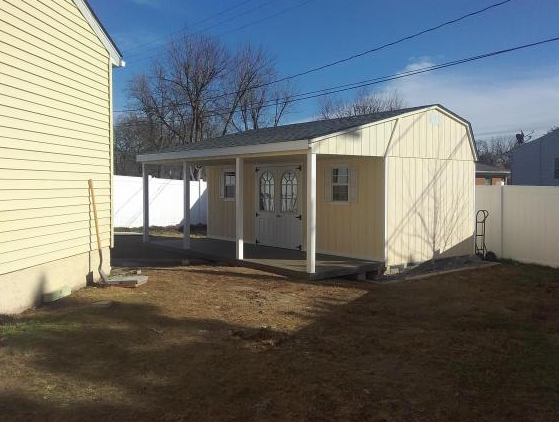
[{"label": "upper thin power line rising to the photo's top edge", "polygon": [[[368,55],[368,54],[378,52],[380,50],[384,50],[388,47],[392,47],[394,45],[403,43],[405,41],[409,41],[411,39],[418,38],[418,37],[420,37],[422,35],[425,35],[427,33],[437,31],[437,30],[442,29],[446,26],[453,25],[455,23],[458,23],[458,22],[463,21],[465,19],[474,17],[476,15],[480,15],[480,14],[485,13],[485,12],[491,10],[491,9],[495,9],[497,7],[500,7],[500,6],[503,6],[507,3],[510,3],[511,1],[513,1],[513,0],[503,0],[503,1],[500,1],[498,3],[493,3],[493,4],[491,4],[489,6],[486,6],[482,9],[475,10],[473,12],[467,13],[465,15],[459,16],[459,17],[451,19],[451,20],[447,20],[447,21],[442,22],[440,24],[437,24],[435,26],[432,26],[432,27],[420,30],[418,32],[415,32],[413,34],[410,34],[410,35],[404,36],[402,38],[399,38],[395,41],[391,41],[391,42],[379,45],[377,47],[371,48],[369,50],[366,50],[366,51],[363,51],[363,52],[360,52],[360,53],[356,53],[356,54],[353,54],[351,56],[348,56],[348,57],[345,57],[345,58],[342,58],[342,59],[339,59],[339,60],[335,60],[333,62],[325,63],[323,65],[320,65],[320,66],[317,66],[317,67],[314,67],[314,68],[310,68],[310,69],[304,70],[304,71],[299,72],[299,73],[295,73],[295,74],[288,75],[288,76],[285,76],[285,77],[282,77],[282,78],[279,78],[279,79],[275,79],[275,80],[272,80],[272,81],[269,81],[269,82],[265,82],[265,83],[262,83],[262,84],[259,84],[259,85],[255,85],[253,87],[250,87],[249,89],[252,90],[252,89],[258,89],[258,88],[264,88],[266,86],[274,85],[274,84],[277,84],[279,82],[284,82],[284,81],[287,81],[287,80],[295,79],[295,78],[305,76],[305,75],[308,75],[308,74],[311,74],[311,73],[315,73],[315,72],[318,72],[318,71],[321,71],[321,70],[324,70],[324,69],[342,64],[342,63],[346,63],[348,61],[357,59],[359,57],[363,57],[363,56]],[[220,36],[226,35],[226,34],[227,33],[223,33],[223,34],[220,34]],[[144,59],[141,59],[141,60],[144,60]],[[208,100],[215,100],[215,99],[223,98],[223,97],[230,96],[230,95],[237,95],[239,93],[240,93],[240,91],[226,92],[226,93],[217,95],[215,97],[210,97],[210,98],[208,98]]]}]

